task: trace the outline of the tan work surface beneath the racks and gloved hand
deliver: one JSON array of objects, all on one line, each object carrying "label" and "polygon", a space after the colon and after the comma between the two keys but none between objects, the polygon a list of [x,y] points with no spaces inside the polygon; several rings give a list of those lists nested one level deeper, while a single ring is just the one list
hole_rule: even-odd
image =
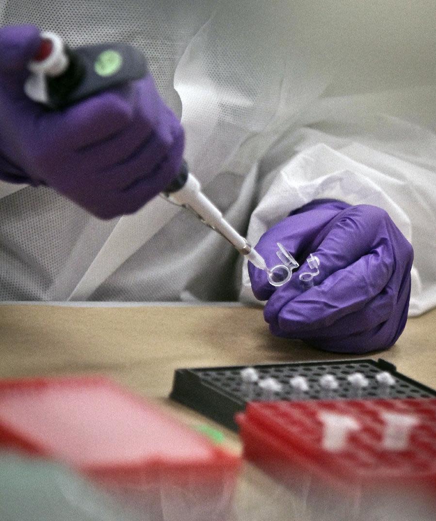
[{"label": "tan work surface beneath the racks and gloved hand", "polygon": [[[271,336],[260,308],[0,307],[1,378],[106,374],[157,400],[188,424],[215,427],[212,421],[166,398],[175,369],[382,357],[400,373],[435,387],[435,352],[436,309],[409,319],[390,350],[344,355]],[[219,428],[226,433],[228,446],[240,450],[237,435]],[[306,517],[296,498],[250,465],[244,467],[235,501],[237,519],[289,521]]]}]

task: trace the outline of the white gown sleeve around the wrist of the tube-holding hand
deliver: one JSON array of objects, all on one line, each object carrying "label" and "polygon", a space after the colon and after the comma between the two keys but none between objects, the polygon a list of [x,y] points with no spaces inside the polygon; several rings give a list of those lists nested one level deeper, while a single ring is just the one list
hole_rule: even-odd
[{"label": "white gown sleeve around the wrist of the tube-holding hand", "polygon": [[[248,241],[256,244],[289,212],[324,198],[384,208],[415,251],[409,315],[419,315],[436,305],[434,170],[356,142],[336,150],[324,143],[315,144],[278,169],[252,214]],[[241,300],[256,302],[246,261]]]}]

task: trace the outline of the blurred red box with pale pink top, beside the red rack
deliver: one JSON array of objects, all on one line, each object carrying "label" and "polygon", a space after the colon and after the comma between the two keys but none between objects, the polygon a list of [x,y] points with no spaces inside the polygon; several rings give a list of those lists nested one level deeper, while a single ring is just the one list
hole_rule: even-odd
[{"label": "blurred red box with pale pink top, beside the red rack", "polygon": [[174,519],[199,509],[226,519],[240,467],[238,456],[104,377],[0,382],[0,449],[63,462]]}]

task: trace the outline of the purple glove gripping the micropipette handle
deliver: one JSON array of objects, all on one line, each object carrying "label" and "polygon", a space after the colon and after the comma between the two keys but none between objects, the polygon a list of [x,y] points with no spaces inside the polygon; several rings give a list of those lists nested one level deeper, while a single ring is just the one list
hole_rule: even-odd
[{"label": "purple glove gripping the micropipette handle", "polygon": [[136,212],[177,177],[182,127],[149,75],[57,113],[25,96],[34,26],[0,29],[0,177],[47,185],[105,219]]}]

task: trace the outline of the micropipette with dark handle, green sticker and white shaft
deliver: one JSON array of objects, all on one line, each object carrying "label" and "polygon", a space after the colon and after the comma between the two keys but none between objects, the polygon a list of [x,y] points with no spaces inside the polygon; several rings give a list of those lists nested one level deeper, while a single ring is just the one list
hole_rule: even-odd
[{"label": "micropipette with dark handle, green sticker and white shaft", "polygon": [[[41,38],[38,53],[28,66],[31,75],[25,82],[24,90],[33,101],[54,110],[143,78],[148,73],[146,58],[138,49],[127,44],[99,44],[71,49],[57,34],[43,32]],[[188,208],[204,224],[220,233],[257,268],[265,271],[273,286],[282,286],[292,276],[294,264],[292,267],[285,264],[272,268],[267,266],[265,259],[201,192],[200,182],[189,172],[186,162],[183,162],[178,177],[162,195],[170,202]],[[280,252],[278,255],[282,258]]]}]

